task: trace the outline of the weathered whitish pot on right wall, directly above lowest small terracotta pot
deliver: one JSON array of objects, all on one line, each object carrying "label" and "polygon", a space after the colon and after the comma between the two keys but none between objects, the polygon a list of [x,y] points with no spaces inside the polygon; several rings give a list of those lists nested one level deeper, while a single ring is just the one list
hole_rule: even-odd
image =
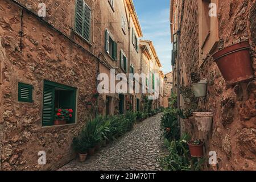
[{"label": "weathered whitish pot on right wall, directly above lowest small terracotta pot", "polygon": [[193,113],[195,124],[199,131],[210,131],[212,129],[213,113],[198,112]]}]

